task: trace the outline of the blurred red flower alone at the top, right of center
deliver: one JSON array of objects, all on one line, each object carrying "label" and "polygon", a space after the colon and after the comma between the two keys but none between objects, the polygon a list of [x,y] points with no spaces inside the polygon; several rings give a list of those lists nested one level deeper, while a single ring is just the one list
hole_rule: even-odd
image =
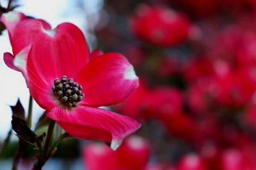
[{"label": "blurred red flower alone at the top, right of center", "polygon": [[184,14],[164,6],[141,5],[129,18],[131,33],[140,40],[160,47],[170,47],[191,37],[199,31]]}]

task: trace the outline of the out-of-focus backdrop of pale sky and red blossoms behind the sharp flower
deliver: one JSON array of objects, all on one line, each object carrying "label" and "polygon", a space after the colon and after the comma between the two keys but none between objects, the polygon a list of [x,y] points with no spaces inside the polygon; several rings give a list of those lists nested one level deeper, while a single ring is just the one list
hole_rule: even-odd
[{"label": "out-of-focus backdrop of pale sky and red blossoms behind the sharp flower", "polygon": [[[2,6],[7,1],[0,0]],[[117,51],[140,87],[109,109],[142,123],[113,152],[101,142],[67,139],[44,170],[256,170],[255,0],[15,0],[52,26],[71,22],[91,51]],[[7,31],[0,53],[11,51]],[[11,110],[29,94],[0,58],[0,142]],[[35,123],[44,112],[35,103]],[[11,168],[17,139],[0,158]],[[27,149],[27,157],[33,153]],[[20,169],[28,169],[24,159]]]}]

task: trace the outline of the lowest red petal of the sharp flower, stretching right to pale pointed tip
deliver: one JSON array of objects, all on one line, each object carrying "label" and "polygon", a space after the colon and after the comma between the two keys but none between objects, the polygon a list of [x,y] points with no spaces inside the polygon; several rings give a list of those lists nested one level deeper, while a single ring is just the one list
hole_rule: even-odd
[{"label": "lowest red petal of the sharp flower, stretching right to pale pointed tip", "polygon": [[56,120],[70,135],[111,142],[113,150],[122,144],[126,136],[140,128],[140,123],[130,117],[81,105],[73,109],[56,106],[47,116]]}]

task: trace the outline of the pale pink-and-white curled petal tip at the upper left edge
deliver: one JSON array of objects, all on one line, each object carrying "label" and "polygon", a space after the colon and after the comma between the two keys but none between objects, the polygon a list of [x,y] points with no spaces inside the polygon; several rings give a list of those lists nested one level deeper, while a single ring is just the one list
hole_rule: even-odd
[{"label": "pale pink-and-white curled petal tip at the upper left edge", "polygon": [[8,30],[11,44],[14,30],[17,24],[24,19],[26,19],[26,16],[23,13],[17,11],[10,11],[1,15],[0,21],[6,26]]}]

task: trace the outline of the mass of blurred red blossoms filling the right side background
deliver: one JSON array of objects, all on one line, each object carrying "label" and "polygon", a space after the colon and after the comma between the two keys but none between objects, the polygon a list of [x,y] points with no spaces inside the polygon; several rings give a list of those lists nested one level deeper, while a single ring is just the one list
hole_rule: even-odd
[{"label": "mass of blurred red blossoms filling the right side background", "polygon": [[[112,153],[122,160],[106,162],[127,170],[255,170],[255,1],[111,0],[106,9],[99,45],[123,53],[140,77],[113,109],[142,123],[140,137],[127,140],[133,149],[124,144]],[[93,148],[85,162],[96,170]]]}]

